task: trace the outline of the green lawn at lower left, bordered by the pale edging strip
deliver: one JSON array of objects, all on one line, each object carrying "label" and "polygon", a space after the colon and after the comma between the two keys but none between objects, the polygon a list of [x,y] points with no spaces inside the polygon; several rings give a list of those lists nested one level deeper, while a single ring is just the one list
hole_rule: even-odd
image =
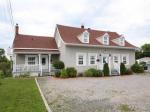
[{"label": "green lawn at lower left, bordered by the pale edging strip", "polygon": [[0,112],[46,112],[34,79],[1,79]]}]

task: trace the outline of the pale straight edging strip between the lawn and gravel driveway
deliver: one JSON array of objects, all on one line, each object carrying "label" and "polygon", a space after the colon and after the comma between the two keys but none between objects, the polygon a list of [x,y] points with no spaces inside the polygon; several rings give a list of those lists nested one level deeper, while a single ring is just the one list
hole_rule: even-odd
[{"label": "pale straight edging strip between the lawn and gravel driveway", "polygon": [[38,89],[39,89],[40,95],[41,95],[41,97],[42,97],[42,99],[43,99],[43,102],[44,102],[44,104],[45,104],[45,107],[46,107],[47,111],[48,111],[48,112],[52,112],[52,110],[50,109],[50,107],[49,107],[49,105],[48,105],[48,103],[47,103],[47,101],[46,101],[46,99],[45,99],[45,97],[44,97],[44,95],[43,95],[43,93],[42,93],[42,91],[41,91],[41,88],[40,88],[40,86],[39,86],[39,83],[38,83],[38,81],[37,81],[37,78],[35,78],[35,82],[36,82],[36,85],[37,85],[37,87],[38,87]]}]

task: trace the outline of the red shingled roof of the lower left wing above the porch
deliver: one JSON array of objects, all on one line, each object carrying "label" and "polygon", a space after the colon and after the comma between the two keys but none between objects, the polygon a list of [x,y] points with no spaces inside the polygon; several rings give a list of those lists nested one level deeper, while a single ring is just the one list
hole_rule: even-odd
[{"label": "red shingled roof of the lower left wing above the porch", "polygon": [[13,48],[58,49],[53,37],[17,34]]}]

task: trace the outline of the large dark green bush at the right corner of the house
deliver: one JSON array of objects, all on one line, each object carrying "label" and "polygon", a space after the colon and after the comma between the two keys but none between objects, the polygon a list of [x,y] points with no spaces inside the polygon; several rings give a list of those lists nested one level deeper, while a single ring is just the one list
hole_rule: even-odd
[{"label": "large dark green bush at the right corner of the house", "polygon": [[135,64],[133,64],[131,66],[131,70],[134,72],[134,73],[143,73],[144,72],[144,67],[139,65],[137,62]]}]

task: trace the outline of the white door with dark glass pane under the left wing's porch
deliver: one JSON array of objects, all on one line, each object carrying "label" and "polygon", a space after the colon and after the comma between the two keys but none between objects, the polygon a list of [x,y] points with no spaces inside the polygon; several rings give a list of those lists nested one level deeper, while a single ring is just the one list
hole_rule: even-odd
[{"label": "white door with dark glass pane under the left wing's porch", "polygon": [[41,65],[43,71],[48,70],[48,55],[41,56]]}]

